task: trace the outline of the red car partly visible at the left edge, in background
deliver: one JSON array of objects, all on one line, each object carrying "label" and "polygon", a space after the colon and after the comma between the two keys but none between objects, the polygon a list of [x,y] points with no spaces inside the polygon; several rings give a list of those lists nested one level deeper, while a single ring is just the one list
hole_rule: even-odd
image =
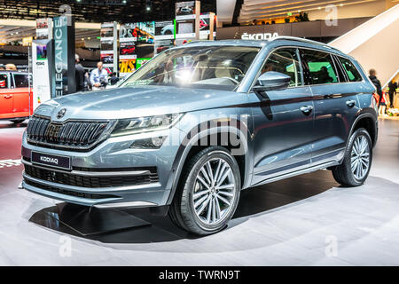
[{"label": "red car partly visible at the left edge, in background", "polygon": [[33,113],[32,89],[23,72],[0,71],[0,119],[23,122]]}]

